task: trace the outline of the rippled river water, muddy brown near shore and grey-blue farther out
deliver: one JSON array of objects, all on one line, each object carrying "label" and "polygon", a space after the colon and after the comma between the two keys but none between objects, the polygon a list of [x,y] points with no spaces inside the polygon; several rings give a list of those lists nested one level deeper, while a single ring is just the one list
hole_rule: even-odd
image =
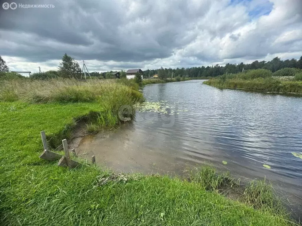
[{"label": "rippled river water, muddy brown near shore and grey-blue farther out", "polygon": [[155,110],[149,103],[135,121],[83,139],[77,152],[117,171],[146,174],[182,174],[206,162],[235,176],[265,177],[301,197],[302,159],[291,152],[302,152],[302,97],[202,82],[144,86]]}]

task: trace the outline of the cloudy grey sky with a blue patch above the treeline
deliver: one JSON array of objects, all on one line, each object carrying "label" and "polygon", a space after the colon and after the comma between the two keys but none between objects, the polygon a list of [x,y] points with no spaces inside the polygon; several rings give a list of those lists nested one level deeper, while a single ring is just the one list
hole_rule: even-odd
[{"label": "cloudy grey sky with a blue patch above the treeline", "polygon": [[[3,9],[10,69],[56,69],[66,52],[89,71],[269,61],[302,55],[302,0],[24,0]],[[89,62],[89,63],[88,63]]]}]

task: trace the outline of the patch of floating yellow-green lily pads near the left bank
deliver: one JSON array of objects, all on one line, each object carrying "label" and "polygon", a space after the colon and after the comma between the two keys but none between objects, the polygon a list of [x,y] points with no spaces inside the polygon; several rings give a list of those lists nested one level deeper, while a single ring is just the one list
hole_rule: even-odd
[{"label": "patch of floating yellow-green lily pads near the left bank", "polygon": [[[143,102],[136,104],[136,108],[140,112],[156,112],[160,114],[174,115],[175,113],[179,115],[179,112],[186,112],[188,110],[176,109],[176,106],[166,103],[167,101],[158,102]],[[177,111],[177,112],[175,112]]]}]

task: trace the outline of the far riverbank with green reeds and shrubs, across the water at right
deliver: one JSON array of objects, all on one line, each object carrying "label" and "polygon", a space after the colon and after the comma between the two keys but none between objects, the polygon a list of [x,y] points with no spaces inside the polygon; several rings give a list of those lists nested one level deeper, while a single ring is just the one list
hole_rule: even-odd
[{"label": "far riverbank with green reeds and shrubs, across the water at right", "polygon": [[[278,71],[274,74],[279,74]],[[287,76],[274,77],[271,71],[265,69],[249,70],[238,74],[224,74],[220,77],[204,81],[204,84],[218,88],[235,88],[250,90],[267,90],[278,93],[302,93],[301,72],[297,70],[291,79]]]}]

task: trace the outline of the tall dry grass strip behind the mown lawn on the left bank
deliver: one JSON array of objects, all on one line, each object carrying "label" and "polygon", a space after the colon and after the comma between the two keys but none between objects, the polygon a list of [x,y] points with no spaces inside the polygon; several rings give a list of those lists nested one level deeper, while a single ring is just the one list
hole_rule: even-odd
[{"label": "tall dry grass strip behind the mown lawn on the left bank", "polygon": [[[132,101],[142,99],[142,94],[133,87],[115,80],[49,79],[5,80],[0,89],[1,101],[29,103],[93,102],[97,100],[119,101],[120,97]],[[127,101],[128,102],[128,101]]]}]

